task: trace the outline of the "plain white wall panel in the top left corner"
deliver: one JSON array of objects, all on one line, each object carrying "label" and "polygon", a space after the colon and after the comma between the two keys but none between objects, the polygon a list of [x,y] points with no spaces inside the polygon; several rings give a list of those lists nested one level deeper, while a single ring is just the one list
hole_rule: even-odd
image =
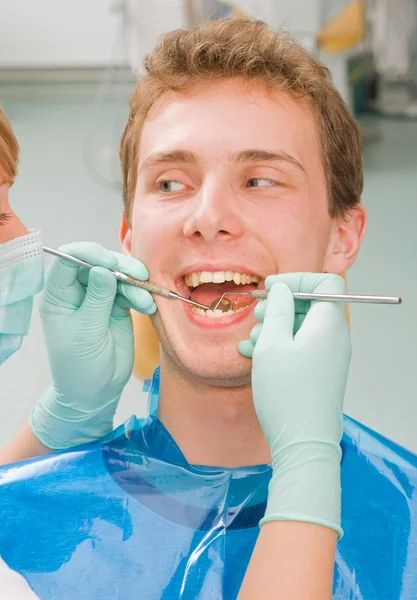
[{"label": "plain white wall panel in the top left corner", "polygon": [[114,0],[0,0],[0,68],[125,64]]}]

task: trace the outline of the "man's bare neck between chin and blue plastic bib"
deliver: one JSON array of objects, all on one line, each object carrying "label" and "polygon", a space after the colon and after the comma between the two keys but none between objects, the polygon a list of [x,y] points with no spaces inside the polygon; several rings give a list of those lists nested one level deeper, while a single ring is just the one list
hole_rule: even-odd
[{"label": "man's bare neck between chin and blue plastic bib", "polygon": [[196,383],[161,360],[158,418],[190,464],[242,467],[269,463],[250,385]]}]

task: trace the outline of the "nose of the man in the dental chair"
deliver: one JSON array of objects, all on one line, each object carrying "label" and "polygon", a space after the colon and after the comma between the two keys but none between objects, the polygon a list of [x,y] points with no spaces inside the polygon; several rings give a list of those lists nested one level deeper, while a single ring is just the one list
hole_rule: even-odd
[{"label": "nose of the man in the dental chair", "polygon": [[237,200],[230,187],[213,183],[203,185],[189,203],[184,236],[208,244],[241,236],[244,223]]}]

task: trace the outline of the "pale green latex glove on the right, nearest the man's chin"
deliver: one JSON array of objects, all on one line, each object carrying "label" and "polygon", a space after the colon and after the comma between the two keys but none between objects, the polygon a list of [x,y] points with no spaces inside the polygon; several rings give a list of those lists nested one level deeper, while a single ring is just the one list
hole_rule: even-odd
[{"label": "pale green latex glove on the right, nearest the man's chin", "polygon": [[[252,331],[252,390],[271,448],[273,475],[268,521],[340,526],[340,440],[351,344],[344,303],[311,302],[299,310],[294,335],[293,292],[345,294],[337,275],[293,273],[268,277],[268,299]],[[247,351],[248,342],[243,344]]]}]

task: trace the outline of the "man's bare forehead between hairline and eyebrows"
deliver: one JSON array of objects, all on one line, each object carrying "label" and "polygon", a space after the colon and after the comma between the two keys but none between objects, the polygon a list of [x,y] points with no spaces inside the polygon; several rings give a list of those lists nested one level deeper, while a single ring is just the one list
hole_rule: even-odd
[{"label": "man's bare forehead between hairline and eyebrows", "polygon": [[260,84],[204,82],[187,92],[166,92],[152,107],[142,128],[139,165],[153,152],[187,149],[219,161],[255,147],[319,165],[317,127],[307,102]]}]

